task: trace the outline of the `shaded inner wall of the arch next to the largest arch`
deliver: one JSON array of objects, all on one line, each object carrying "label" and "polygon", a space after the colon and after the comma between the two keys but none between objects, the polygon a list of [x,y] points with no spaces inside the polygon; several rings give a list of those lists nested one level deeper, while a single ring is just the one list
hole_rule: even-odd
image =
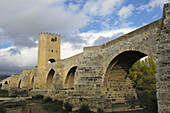
[{"label": "shaded inner wall of the arch next to the largest arch", "polygon": [[72,67],[67,73],[67,76],[65,79],[65,86],[68,89],[74,89],[74,76],[75,76],[77,67],[78,66]]}]

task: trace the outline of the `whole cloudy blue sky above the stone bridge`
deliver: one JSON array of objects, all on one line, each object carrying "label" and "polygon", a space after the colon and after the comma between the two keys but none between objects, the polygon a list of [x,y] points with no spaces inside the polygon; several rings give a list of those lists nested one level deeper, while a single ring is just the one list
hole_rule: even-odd
[{"label": "whole cloudy blue sky above the stone bridge", "polygon": [[0,0],[0,75],[37,65],[38,34],[61,35],[61,59],[162,18],[170,0]]}]

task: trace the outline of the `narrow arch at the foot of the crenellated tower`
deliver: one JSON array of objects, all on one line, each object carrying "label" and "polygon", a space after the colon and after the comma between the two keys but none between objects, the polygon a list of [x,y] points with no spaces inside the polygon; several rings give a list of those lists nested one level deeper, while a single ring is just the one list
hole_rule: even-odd
[{"label": "narrow arch at the foot of the crenellated tower", "polygon": [[51,69],[48,73],[47,80],[46,80],[46,88],[50,89],[53,85],[53,76],[55,74],[54,69]]}]

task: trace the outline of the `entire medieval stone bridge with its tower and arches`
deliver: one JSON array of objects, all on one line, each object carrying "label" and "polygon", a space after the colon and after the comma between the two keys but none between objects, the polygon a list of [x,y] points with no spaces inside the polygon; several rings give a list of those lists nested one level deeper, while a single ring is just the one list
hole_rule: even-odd
[{"label": "entire medieval stone bridge with its tower and arches", "polygon": [[170,4],[165,4],[161,19],[67,59],[60,59],[59,35],[40,33],[38,67],[13,74],[2,81],[3,88],[32,89],[30,95],[50,95],[75,106],[84,102],[108,111],[127,110],[130,101],[136,103],[128,70],[149,56],[156,63],[159,113],[170,112],[169,32]]}]

